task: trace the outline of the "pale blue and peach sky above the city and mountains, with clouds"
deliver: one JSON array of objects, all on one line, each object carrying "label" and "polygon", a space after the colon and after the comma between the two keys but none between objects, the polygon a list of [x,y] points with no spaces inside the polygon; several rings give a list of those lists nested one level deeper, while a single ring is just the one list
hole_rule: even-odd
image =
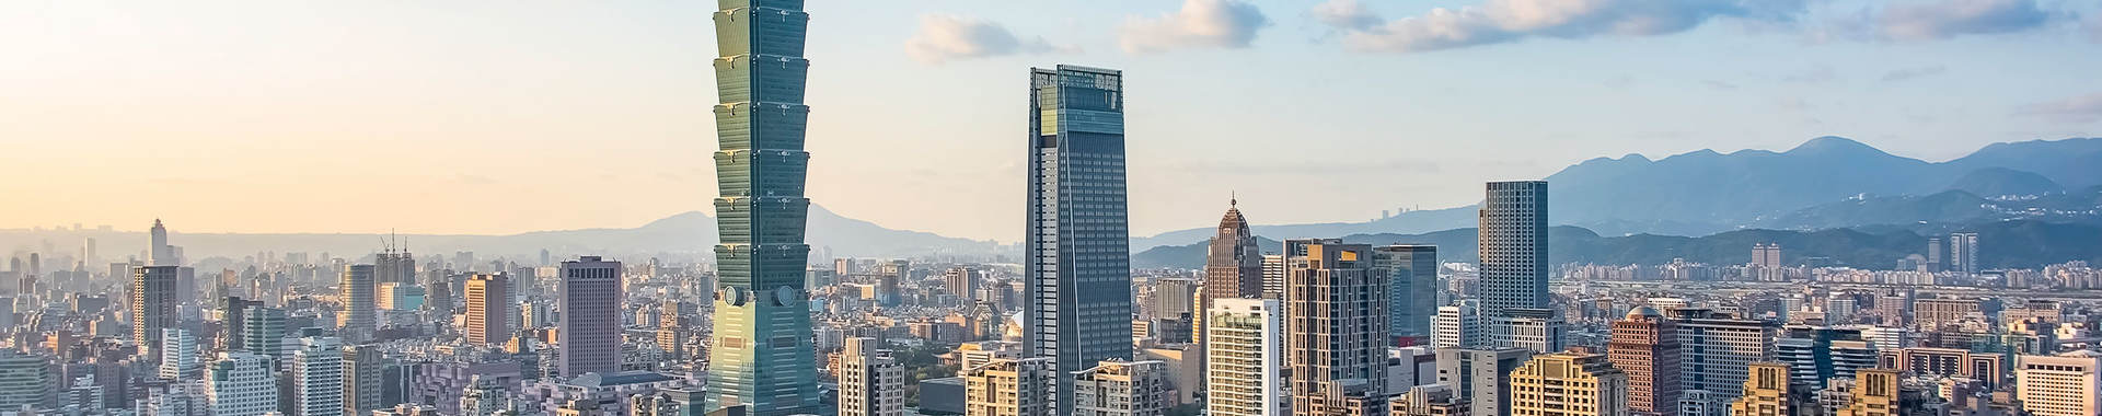
[{"label": "pale blue and peach sky above the city and mountains, with clouds", "polygon": [[[717,195],[715,2],[0,2],[0,229],[521,233]],[[2102,134],[2102,0],[809,0],[809,197],[1022,233],[1026,74],[1125,71],[1133,235],[1589,158]]]}]

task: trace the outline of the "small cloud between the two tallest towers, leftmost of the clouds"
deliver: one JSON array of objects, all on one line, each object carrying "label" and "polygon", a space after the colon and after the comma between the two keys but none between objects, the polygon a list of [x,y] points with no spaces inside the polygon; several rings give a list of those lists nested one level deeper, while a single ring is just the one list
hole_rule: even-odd
[{"label": "small cloud between the two tallest towers, leftmost of the clouds", "polygon": [[906,40],[906,55],[923,63],[1064,50],[1074,48],[1043,38],[1022,40],[1001,23],[952,15],[923,15],[919,34]]}]

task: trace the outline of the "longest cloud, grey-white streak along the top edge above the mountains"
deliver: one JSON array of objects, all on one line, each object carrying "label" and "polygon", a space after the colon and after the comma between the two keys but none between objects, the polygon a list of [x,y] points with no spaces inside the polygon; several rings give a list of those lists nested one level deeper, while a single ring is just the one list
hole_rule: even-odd
[{"label": "longest cloud, grey-white streak along the top edge above the mountains", "polygon": [[1663,36],[1717,17],[1793,23],[1804,13],[1806,0],[1488,0],[1356,29],[1347,42],[1360,50],[1423,53],[1539,36]]}]

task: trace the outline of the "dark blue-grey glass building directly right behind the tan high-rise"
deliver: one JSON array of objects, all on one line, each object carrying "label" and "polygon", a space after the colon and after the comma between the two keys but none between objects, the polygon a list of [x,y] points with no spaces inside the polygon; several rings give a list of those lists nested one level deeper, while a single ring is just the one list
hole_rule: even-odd
[{"label": "dark blue-grey glass building directly right behind the tan high-rise", "polygon": [[1387,273],[1387,334],[1431,336],[1438,315],[1438,246],[1373,248]]}]

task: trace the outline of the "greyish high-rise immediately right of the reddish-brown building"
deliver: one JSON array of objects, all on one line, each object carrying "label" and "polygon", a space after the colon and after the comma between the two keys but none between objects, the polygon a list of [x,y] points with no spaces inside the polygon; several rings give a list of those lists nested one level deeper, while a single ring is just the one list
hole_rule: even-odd
[{"label": "greyish high-rise immediately right of the reddish-brown building", "polygon": [[[1751,363],[1774,361],[1774,324],[1734,319],[1707,309],[1675,309],[1679,336],[1679,408],[1728,408],[1743,395]],[[1698,391],[1698,393],[1696,393]],[[1682,412],[1684,414],[1684,412]]]}]

